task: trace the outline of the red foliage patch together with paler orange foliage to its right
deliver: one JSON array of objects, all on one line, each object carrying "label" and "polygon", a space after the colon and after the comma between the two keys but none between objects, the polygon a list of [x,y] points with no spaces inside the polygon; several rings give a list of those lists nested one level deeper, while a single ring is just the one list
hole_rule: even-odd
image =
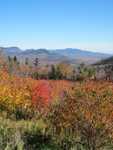
[{"label": "red foliage patch together with paler orange foliage to its right", "polygon": [[50,104],[62,97],[64,91],[69,92],[72,87],[71,82],[63,80],[38,80],[32,90],[32,102],[34,105],[42,103]]}]

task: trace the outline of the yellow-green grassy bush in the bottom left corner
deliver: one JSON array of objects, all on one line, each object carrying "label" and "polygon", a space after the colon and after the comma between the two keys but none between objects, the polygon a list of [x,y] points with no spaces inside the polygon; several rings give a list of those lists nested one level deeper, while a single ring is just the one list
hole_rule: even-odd
[{"label": "yellow-green grassy bush in the bottom left corner", "polygon": [[46,124],[38,121],[0,119],[0,148],[2,150],[57,150]]}]

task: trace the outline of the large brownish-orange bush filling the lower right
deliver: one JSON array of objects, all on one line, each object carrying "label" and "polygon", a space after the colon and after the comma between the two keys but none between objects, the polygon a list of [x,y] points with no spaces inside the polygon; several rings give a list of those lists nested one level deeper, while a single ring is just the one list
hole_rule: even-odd
[{"label": "large brownish-orange bush filling the lower right", "polygon": [[47,121],[62,149],[76,146],[85,150],[113,149],[113,89],[104,85],[78,83],[72,93],[65,93],[51,107]]}]

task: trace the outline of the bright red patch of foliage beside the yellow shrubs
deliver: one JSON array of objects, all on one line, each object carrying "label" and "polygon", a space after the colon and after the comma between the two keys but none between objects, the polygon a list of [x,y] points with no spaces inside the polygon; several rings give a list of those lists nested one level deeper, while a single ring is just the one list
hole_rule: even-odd
[{"label": "bright red patch of foliage beside the yellow shrubs", "polygon": [[35,106],[47,106],[51,101],[51,86],[48,81],[40,80],[32,91],[32,102]]}]

